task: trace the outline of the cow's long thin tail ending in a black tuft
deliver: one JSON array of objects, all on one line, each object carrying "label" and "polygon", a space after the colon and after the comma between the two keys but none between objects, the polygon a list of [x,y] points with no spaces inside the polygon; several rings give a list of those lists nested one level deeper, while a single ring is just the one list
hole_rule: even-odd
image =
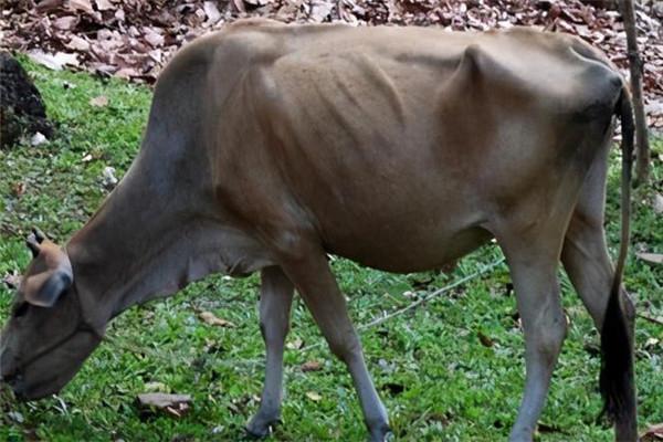
[{"label": "cow's long thin tail ending in a black tuft", "polygon": [[621,245],[608,307],[601,328],[602,368],[600,389],[603,397],[601,415],[614,422],[617,440],[638,440],[635,386],[633,379],[633,322],[634,308],[622,291],[622,275],[629,249],[631,221],[631,169],[633,165],[633,113],[625,84],[615,106],[622,126],[621,180]]}]

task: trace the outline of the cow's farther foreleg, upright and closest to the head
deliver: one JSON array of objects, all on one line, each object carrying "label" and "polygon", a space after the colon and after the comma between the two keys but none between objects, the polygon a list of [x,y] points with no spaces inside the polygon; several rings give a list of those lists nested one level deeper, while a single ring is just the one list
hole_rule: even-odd
[{"label": "cow's farther foreleg, upright and closest to the head", "polygon": [[290,330],[294,286],[280,267],[261,272],[260,330],[266,347],[265,385],[260,410],[246,424],[246,431],[266,438],[281,418],[283,399],[283,349]]}]

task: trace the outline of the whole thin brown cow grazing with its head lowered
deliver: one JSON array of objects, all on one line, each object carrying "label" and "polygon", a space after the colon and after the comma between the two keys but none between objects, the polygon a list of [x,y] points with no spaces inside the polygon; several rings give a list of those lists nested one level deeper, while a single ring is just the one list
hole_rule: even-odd
[{"label": "whole thin brown cow grazing with its head lowered", "polygon": [[[603,232],[622,124],[622,234]],[[246,424],[280,418],[295,290],[357,390],[369,441],[389,433],[328,254],[436,269],[493,239],[515,286],[526,380],[509,441],[530,441],[566,335],[561,262],[601,333],[618,441],[638,438],[633,305],[622,288],[633,151],[623,77],[581,40],[513,29],[285,25],[202,36],[160,75],[131,167],[62,248],[40,232],[1,340],[15,394],[59,391],[137,303],[211,273],[261,272],[266,375]]]}]

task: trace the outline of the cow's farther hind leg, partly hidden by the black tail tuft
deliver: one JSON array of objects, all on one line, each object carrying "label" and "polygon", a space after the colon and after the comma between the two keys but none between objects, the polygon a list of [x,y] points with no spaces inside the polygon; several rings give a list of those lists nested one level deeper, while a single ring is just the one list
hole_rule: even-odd
[{"label": "cow's farther hind leg, partly hidden by the black tail tuft", "polygon": [[[610,131],[611,133],[611,131]],[[614,308],[608,308],[610,291],[614,278],[614,270],[603,232],[606,173],[608,168],[609,141],[583,185],[582,192],[576,206],[576,210],[569,223],[561,261],[571,280],[573,287],[589,311],[596,327],[601,332],[601,346],[618,347],[612,351],[617,354],[617,361],[603,364],[615,364],[621,371],[619,380],[611,380],[615,388],[602,393],[607,400],[607,409],[620,407],[617,418],[617,440],[633,442],[638,440],[636,401],[633,381],[633,306],[629,297],[620,292],[620,303]],[[621,288],[620,288],[621,291]],[[607,312],[612,317],[607,318]],[[603,330],[603,324],[608,319],[611,324],[609,329]],[[607,332],[607,333],[603,333]],[[606,350],[603,351],[606,354]],[[606,378],[606,375],[603,375]],[[608,379],[603,379],[603,382]],[[617,382],[617,383],[615,383]],[[614,391],[619,390],[619,391]],[[610,396],[619,399],[612,400]],[[611,403],[619,402],[619,403]]]}]

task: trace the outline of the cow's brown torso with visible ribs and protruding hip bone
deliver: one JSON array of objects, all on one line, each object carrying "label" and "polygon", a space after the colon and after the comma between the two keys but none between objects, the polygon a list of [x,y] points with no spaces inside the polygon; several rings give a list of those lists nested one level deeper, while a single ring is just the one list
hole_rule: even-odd
[{"label": "cow's brown torso with visible ribs and protruding hip bone", "polygon": [[573,149],[621,85],[575,39],[527,30],[252,22],[188,51],[212,54],[201,130],[221,203],[394,271],[466,253],[565,158],[589,161]]}]

